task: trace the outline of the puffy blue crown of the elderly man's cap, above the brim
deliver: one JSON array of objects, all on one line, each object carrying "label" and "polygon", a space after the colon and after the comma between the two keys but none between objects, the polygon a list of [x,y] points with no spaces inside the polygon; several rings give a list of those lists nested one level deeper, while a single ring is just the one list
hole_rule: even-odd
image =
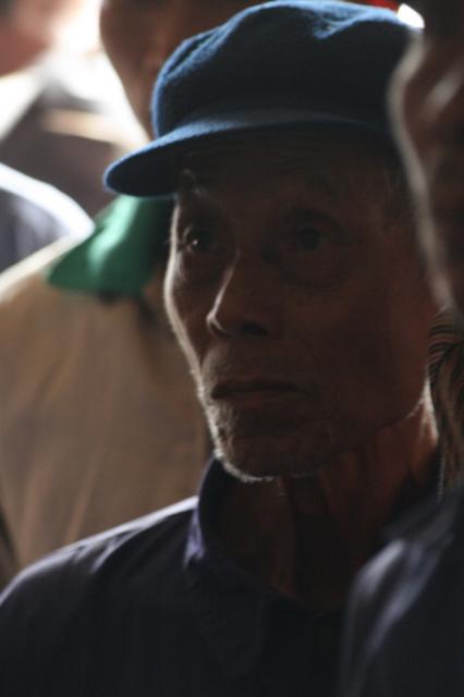
[{"label": "puffy blue crown of the elderly man's cap, above the brim", "polygon": [[317,98],[378,112],[410,32],[388,10],[346,2],[268,2],[187,39],[154,98],[161,136],[218,102],[237,107]]}]

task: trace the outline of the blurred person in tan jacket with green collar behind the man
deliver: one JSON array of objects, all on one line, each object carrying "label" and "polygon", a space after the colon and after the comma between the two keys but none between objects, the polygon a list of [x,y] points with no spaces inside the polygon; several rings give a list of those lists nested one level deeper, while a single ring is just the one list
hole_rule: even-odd
[{"label": "blurred person in tan jacket with green collar behind the man", "polygon": [[[105,0],[108,56],[150,135],[169,53],[252,4]],[[57,243],[0,278],[0,585],[196,490],[209,441],[162,308],[170,216],[170,201],[119,197],[71,252]]]}]

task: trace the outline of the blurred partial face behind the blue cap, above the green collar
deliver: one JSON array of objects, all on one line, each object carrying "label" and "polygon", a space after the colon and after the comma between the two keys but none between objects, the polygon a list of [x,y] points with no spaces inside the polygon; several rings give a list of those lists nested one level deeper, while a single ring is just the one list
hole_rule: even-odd
[{"label": "blurred partial face behind the blue cap, above the green collar", "polygon": [[106,51],[142,125],[151,133],[155,80],[184,39],[210,29],[245,8],[246,0],[103,0],[100,14]]}]

